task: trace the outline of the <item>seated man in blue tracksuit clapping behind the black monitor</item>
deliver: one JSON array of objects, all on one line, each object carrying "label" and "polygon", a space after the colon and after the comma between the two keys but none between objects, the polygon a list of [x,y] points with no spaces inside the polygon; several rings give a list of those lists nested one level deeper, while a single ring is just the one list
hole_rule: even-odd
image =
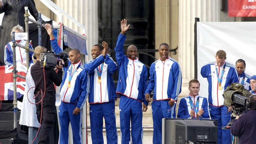
[{"label": "seated man in blue tracksuit clapping behind the black monitor", "polygon": [[196,79],[189,81],[189,95],[180,99],[177,118],[210,119],[207,98],[198,95],[200,83]]}]

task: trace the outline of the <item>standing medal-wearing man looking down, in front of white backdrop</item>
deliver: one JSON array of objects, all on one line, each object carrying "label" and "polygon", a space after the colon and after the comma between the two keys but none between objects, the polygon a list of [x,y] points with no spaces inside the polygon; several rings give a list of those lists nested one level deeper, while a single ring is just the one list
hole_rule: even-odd
[{"label": "standing medal-wearing man looking down, in front of white backdrop", "polygon": [[224,106],[224,90],[231,83],[238,82],[238,75],[234,65],[226,62],[226,52],[219,50],[216,61],[209,62],[201,68],[201,75],[208,81],[208,101],[211,119],[218,119],[218,144],[230,144],[230,130],[221,129],[227,126],[231,117],[231,107]]}]

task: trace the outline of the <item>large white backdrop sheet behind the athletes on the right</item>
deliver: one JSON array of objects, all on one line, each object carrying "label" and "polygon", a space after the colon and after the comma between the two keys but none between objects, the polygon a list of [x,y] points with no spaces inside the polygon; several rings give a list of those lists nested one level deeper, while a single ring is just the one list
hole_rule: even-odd
[{"label": "large white backdrop sheet behind the athletes on the right", "polygon": [[215,61],[218,50],[227,53],[226,61],[246,62],[245,73],[256,75],[256,22],[197,22],[197,78],[199,95],[208,98],[208,82],[200,74],[201,67]]}]

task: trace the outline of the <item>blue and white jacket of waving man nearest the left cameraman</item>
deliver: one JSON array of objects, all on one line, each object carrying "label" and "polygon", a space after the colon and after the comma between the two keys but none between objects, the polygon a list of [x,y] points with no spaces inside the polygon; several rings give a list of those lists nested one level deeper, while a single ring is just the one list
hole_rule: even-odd
[{"label": "blue and white jacket of waving man nearest the left cameraman", "polygon": [[[56,39],[51,40],[51,45],[55,53],[62,52]],[[61,87],[60,87],[60,95],[63,102],[77,104],[76,107],[78,107],[79,109],[82,109],[86,102],[86,99],[89,93],[89,86],[90,86],[89,75],[84,70],[84,66],[82,64],[77,69],[76,73],[73,75],[70,81],[71,87],[68,88],[68,80],[69,80],[71,65],[73,65],[72,72],[74,72],[74,70],[77,68],[80,62],[81,61],[79,61],[76,64],[71,64],[71,62],[68,61],[68,67],[63,67],[64,76],[63,76]]]}]

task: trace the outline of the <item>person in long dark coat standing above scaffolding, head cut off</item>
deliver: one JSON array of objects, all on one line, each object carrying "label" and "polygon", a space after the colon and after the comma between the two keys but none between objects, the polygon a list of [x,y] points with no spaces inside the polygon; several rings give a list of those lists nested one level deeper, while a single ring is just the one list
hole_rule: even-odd
[{"label": "person in long dark coat standing above scaffolding, head cut off", "polygon": [[[25,29],[24,7],[28,7],[30,14],[37,21],[38,11],[34,0],[0,0],[0,13],[4,13],[0,31],[0,61],[2,64],[4,64],[4,46],[12,40],[9,35],[12,28],[19,24]],[[42,22],[46,24],[45,21]]]}]

